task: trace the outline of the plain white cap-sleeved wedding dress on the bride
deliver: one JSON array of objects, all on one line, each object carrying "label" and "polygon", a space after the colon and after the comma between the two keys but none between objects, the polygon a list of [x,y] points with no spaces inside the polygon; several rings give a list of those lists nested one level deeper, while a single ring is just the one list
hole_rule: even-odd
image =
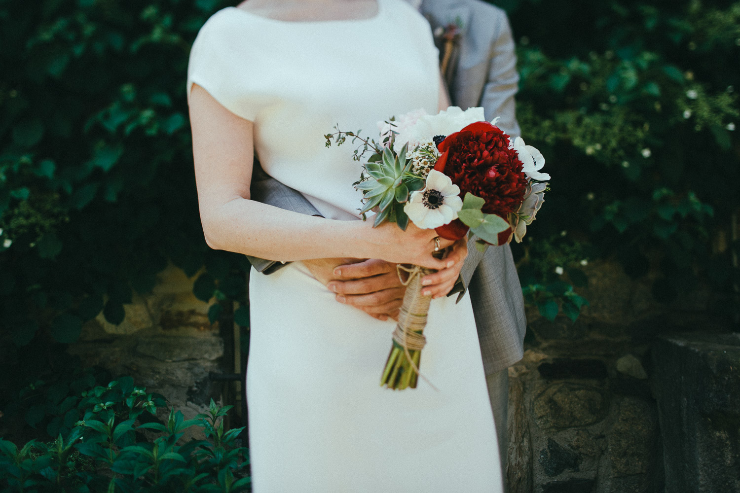
[{"label": "plain white cap-sleeved wedding dress on the bride", "polygon": [[[277,21],[226,7],[192,47],[203,86],[255,123],[265,171],[325,217],[358,220],[360,163],[339,124],[437,112],[438,52],[403,0],[349,21]],[[252,271],[246,395],[255,493],[502,492],[497,435],[470,299],[431,302],[417,389],[380,387],[394,322],[342,305],[301,262]]]}]

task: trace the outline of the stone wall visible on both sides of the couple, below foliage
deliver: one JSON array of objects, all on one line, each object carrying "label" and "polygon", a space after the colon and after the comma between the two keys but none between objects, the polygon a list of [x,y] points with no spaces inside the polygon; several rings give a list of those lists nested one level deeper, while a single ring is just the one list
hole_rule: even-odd
[{"label": "stone wall visible on both sides of the couple, below foliage", "polygon": [[[525,356],[509,369],[509,493],[663,493],[650,344],[672,330],[721,327],[707,316],[710,296],[698,287],[665,307],[647,282],[619,265],[587,268],[579,290],[590,306],[575,322],[548,322],[528,310]],[[209,324],[208,304],[192,281],[169,267],[154,293],[126,306],[123,324],[98,316],[70,353],[85,364],[129,374],[160,392],[186,418],[218,401],[223,341]]]}]

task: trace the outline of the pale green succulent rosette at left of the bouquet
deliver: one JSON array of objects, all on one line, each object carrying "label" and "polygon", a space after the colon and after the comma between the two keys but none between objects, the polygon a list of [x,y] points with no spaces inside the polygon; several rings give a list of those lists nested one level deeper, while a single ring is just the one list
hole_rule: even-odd
[{"label": "pale green succulent rosette at left of the bouquet", "polygon": [[373,227],[385,220],[397,223],[403,230],[408,226],[408,216],[403,211],[403,204],[411,191],[423,188],[424,181],[409,173],[411,160],[406,159],[407,150],[408,144],[396,155],[391,146],[388,146],[382,154],[374,154],[370,162],[365,164],[369,177],[355,185],[355,188],[363,191],[366,200],[360,214],[364,215],[377,207]]}]

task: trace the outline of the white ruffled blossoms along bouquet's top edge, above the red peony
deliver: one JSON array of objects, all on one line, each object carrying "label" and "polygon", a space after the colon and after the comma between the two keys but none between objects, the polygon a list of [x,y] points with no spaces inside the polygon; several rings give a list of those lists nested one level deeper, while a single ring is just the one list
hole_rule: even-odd
[{"label": "white ruffled blossoms along bouquet's top edge, above the red peony", "polygon": [[483,109],[468,108],[462,111],[458,106],[450,106],[437,115],[423,115],[417,122],[406,129],[397,130],[394,150],[400,151],[403,144],[408,142],[408,149],[414,149],[421,141],[441,135],[447,137],[454,132],[460,132],[465,126],[477,121],[485,120]]}]

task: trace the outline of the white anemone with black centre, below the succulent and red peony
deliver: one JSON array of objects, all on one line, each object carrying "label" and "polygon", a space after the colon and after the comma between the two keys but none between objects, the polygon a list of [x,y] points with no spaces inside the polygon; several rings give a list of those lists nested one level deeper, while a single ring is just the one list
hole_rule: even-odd
[{"label": "white anemone with black centre, below the succulent and red peony", "polygon": [[411,193],[403,211],[422,229],[439,228],[457,219],[462,209],[460,187],[440,171],[433,169],[426,177],[426,187]]}]

